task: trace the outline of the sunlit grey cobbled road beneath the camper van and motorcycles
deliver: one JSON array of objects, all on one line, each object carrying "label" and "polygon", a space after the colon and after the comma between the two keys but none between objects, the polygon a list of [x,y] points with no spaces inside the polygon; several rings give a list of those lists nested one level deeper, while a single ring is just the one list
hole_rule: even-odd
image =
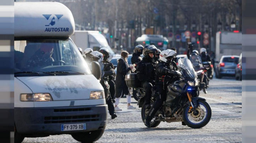
[{"label": "sunlit grey cobbled road beneath the camper van and motorcycles", "polygon": [[[181,122],[161,122],[156,128],[144,126],[136,100],[135,110],[127,110],[126,98],[119,105],[118,118],[108,117],[108,126],[97,143],[239,143],[242,142],[242,82],[234,78],[212,79],[208,94],[200,92],[212,108],[210,122],[201,129]],[[71,135],[25,138],[23,143],[78,143]]]}]

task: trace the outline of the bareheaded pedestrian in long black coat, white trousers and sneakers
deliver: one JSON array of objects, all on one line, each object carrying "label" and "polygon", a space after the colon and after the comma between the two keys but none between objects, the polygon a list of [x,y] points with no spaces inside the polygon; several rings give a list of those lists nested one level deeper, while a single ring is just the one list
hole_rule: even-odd
[{"label": "bareheaded pedestrian in long black coat, white trousers and sneakers", "polygon": [[129,67],[127,58],[129,53],[127,51],[121,52],[121,58],[117,63],[117,72],[116,72],[116,103],[115,110],[122,111],[118,107],[120,103],[120,99],[123,95],[126,95],[127,98],[127,109],[135,109],[136,107],[131,106],[131,98],[132,98],[132,88],[128,88],[125,83],[125,75],[131,74],[131,70],[134,67]]}]

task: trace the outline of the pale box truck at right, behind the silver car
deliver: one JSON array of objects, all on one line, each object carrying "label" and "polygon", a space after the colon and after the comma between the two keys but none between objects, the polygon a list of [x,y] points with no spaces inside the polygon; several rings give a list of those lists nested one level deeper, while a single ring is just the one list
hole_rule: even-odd
[{"label": "pale box truck at right, behind the silver car", "polygon": [[237,55],[242,53],[242,32],[219,31],[216,33],[215,61],[223,55]]}]

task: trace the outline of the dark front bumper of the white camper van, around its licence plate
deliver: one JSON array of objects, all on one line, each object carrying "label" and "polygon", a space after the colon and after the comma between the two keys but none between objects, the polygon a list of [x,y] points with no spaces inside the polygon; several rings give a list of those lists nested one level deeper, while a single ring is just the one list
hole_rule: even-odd
[{"label": "dark front bumper of the white camper van, around its licence plate", "polygon": [[[107,120],[105,105],[50,107],[50,108],[14,108],[15,127],[21,134],[69,134],[73,132],[104,129]],[[86,124],[86,130],[61,131],[62,124]]]}]

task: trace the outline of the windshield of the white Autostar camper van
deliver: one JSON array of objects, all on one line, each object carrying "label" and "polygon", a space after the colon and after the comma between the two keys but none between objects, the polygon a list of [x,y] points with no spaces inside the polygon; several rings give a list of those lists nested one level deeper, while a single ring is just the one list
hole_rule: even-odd
[{"label": "windshield of the white Autostar camper van", "polygon": [[15,76],[91,74],[74,43],[66,39],[15,39]]}]

